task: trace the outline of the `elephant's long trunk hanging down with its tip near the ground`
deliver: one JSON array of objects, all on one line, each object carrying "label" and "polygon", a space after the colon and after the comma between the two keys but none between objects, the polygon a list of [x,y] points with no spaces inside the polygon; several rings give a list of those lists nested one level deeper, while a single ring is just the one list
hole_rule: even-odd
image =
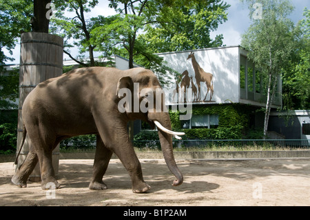
[{"label": "elephant's long trunk hanging down with its tip near the ground", "polygon": [[[156,114],[157,116],[157,117],[154,117],[153,120],[151,119],[152,121],[154,121],[154,123],[158,122],[161,124],[161,126],[166,128],[167,130],[171,130],[171,122],[170,122],[168,113],[161,112],[161,113],[154,113],[154,114]],[[160,115],[159,119],[158,119],[158,115]],[[172,174],[174,174],[174,176],[176,177],[176,180],[174,181],[172,186],[179,186],[180,184],[183,183],[183,175],[180,172],[180,170],[178,170],[178,166],[176,166],[176,161],[174,159],[174,152],[173,152],[173,147],[172,147],[172,135],[173,134],[167,133],[167,130],[164,131],[164,130],[161,130],[161,128],[158,128],[158,136],[159,136],[159,140],[161,141],[161,149],[163,150],[163,156],[165,158],[167,167],[172,172]],[[179,133],[178,135],[183,135],[183,134]]]}]

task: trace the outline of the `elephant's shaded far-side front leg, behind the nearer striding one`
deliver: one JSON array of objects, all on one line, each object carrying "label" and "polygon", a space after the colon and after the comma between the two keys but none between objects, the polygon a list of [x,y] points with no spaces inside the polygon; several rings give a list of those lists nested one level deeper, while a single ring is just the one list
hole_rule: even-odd
[{"label": "elephant's shaded far-side front leg, behind the nearer striding one", "polygon": [[102,179],[107,170],[112,154],[113,152],[105,147],[101,137],[97,135],[94,172],[92,174],[92,181],[90,181],[90,190],[107,189],[107,186],[103,183]]}]

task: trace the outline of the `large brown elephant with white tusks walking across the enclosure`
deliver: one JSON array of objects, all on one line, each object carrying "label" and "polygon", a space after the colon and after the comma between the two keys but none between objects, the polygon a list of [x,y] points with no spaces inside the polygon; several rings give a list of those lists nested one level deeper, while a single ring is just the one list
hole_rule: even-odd
[{"label": "large brown elephant with white tusks walking across the enclosure", "polygon": [[[138,85],[136,92],[134,85]],[[132,100],[136,97],[138,103],[141,103],[147,98],[147,95],[141,94],[143,88],[155,92],[161,89],[161,85],[151,70],[103,67],[79,68],[39,83],[23,103],[22,142],[28,139],[31,146],[27,158],[12,177],[12,183],[26,187],[27,179],[39,161],[42,189],[47,189],[46,184],[49,182],[59,188],[52,167],[52,150],[63,139],[81,134],[97,134],[94,170],[89,188],[107,188],[102,179],[115,153],[130,174],[133,192],[146,192],[150,186],[143,180],[141,164],[127,132],[128,121],[141,119],[152,128],[155,124],[158,126],[165,162],[176,177],[173,186],[180,185],[183,175],[174,160],[172,135],[183,133],[171,131],[169,114],[165,111],[120,111],[118,103],[122,96],[118,91],[124,88],[131,92],[128,94]],[[132,110],[136,109],[134,102],[128,103],[132,105]],[[165,106],[165,102],[162,101],[161,105]]]}]

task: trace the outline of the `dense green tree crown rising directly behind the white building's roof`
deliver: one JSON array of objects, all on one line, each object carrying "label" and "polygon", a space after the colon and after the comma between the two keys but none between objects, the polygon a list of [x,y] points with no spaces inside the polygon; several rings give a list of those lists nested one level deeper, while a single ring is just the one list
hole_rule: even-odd
[{"label": "dense green tree crown rising directly behind the white building's roof", "polygon": [[223,34],[211,39],[210,33],[227,21],[229,5],[221,0],[172,1],[149,22],[139,37],[154,52],[194,50],[223,45]]}]

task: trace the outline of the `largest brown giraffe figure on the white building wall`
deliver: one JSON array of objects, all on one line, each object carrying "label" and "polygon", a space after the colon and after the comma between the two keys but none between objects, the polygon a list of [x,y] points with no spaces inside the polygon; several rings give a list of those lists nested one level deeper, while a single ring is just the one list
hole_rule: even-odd
[{"label": "largest brown giraffe figure on the white building wall", "polygon": [[[201,94],[200,94],[200,82],[204,82],[207,85],[207,93],[205,94],[205,99],[207,99],[207,94],[210,92],[210,99],[209,101],[211,101],[212,96],[214,94],[214,88],[213,88],[213,74],[209,73],[209,72],[205,72],[205,70],[203,70],[203,68],[201,68],[199,66],[199,64],[196,61],[196,58],[194,56],[194,52],[191,52],[188,57],[188,59],[192,59],[192,65],[195,71],[195,79],[196,79],[196,83],[198,86],[198,101],[201,100]],[[203,101],[205,101],[205,99],[203,99]]]}]

